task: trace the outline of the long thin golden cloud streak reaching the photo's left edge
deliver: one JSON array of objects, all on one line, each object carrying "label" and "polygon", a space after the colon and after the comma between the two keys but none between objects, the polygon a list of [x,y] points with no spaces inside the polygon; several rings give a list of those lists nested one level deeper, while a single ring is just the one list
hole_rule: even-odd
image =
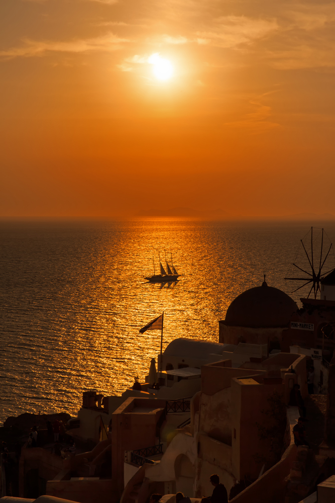
[{"label": "long thin golden cloud streak reaching the photo's left edge", "polygon": [[125,42],[128,42],[128,40],[119,38],[113,33],[107,33],[96,38],[72,40],[69,42],[44,42],[26,39],[24,46],[0,51],[0,56],[5,58],[42,56],[48,51],[73,53],[115,51],[120,49],[121,45]]}]

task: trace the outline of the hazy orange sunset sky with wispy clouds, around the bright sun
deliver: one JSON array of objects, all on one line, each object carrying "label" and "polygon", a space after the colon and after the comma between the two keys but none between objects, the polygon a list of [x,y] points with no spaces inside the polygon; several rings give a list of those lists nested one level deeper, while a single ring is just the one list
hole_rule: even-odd
[{"label": "hazy orange sunset sky with wispy clouds, around the bright sun", "polygon": [[0,215],[335,214],[335,3],[3,0],[0,23]]}]

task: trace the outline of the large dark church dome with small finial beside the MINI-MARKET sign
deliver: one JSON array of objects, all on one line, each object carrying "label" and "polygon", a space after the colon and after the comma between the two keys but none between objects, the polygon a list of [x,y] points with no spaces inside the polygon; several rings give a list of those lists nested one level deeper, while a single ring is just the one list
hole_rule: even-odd
[{"label": "large dark church dome with small finial beside the MINI-MARKET sign", "polygon": [[252,328],[287,326],[297,309],[291,297],[264,281],[262,286],[250,288],[233,300],[225,324]]}]

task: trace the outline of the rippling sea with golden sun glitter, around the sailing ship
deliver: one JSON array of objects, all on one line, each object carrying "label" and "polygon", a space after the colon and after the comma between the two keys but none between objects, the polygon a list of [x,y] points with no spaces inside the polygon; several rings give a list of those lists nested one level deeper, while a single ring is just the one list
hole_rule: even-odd
[{"label": "rippling sea with golden sun glitter, around the sailing ship", "polygon": [[[324,223],[323,257],[335,241]],[[77,414],[82,392],[120,395],[149,373],[161,332],[139,330],[164,311],[163,349],[174,339],[218,341],[218,321],[245,290],[307,296],[306,254],[319,267],[322,222],[191,218],[1,221],[0,424],[24,412]],[[180,274],[152,284],[159,258]],[[334,265],[333,265],[334,264]],[[335,267],[332,249],[327,257]],[[295,269],[295,271],[294,271]],[[325,269],[323,269],[325,270]],[[293,275],[293,276],[292,276]]]}]

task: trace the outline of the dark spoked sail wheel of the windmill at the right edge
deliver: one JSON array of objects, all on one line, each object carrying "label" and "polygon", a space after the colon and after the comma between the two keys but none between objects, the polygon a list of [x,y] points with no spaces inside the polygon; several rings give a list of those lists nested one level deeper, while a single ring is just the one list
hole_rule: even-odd
[{"label": "dark spoked sail wheel of the windmill at the right edge", "polygon": [[[285,280],[305,282],[303,285],[299,286],[291,293],[297,292],[298,290],[300,290],[300,288],[303,288],[304,286],[310,284],[311,287],[307,295],[307,299],[309,298],[312,291],[314,292],[314,299],[316,299],[317,291],[318,290],[320,291],[321,280],[327,274],[329,274],[331,271],[335,269],[335,267],[332,267],[331,269],[326,270],[327,268],[329,268],[330,257],[334,257],[333,246],[332,243],[329,241],[329,238],[326,235],[324,229],[322,228],[318,230],[319,232],[317,233],[316,237],[315,232],[313,237],[313,227],[311,227],[310,230],[307,232],[307,234],[304,236],[304,238],[300,239],[300,245],[295,257],[295,261],[292,264],[296,269],[299,269],[299,271],[305,273],[307,277],[284,278]],[[309,241],[309,233],[310,233],[310,241]],[[325,243],[326,240],[328,241],[327,243]],[[329,256],[330,250],[332,250],[332,255]],[[297,262],[299,253],[300,256],[302,255],[300,259],[302,262],[304,262],[304,264],[301,264],[304,266],[304,269],[295,264],[295,262]],[[326,265],[327,259],[328,262]],[[296,269],[294,269],[295,272]]]}]

